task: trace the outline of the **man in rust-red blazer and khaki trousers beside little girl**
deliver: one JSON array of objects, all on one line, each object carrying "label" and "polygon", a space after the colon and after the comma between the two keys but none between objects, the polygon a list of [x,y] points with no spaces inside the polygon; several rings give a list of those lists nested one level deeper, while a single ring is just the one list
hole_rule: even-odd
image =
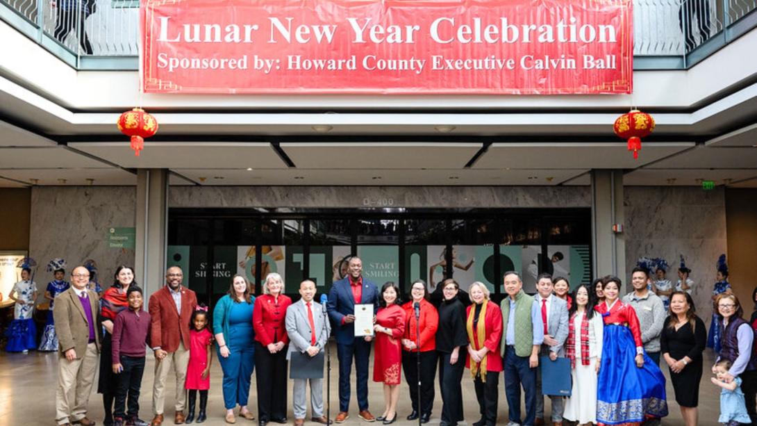
[{"label": "man in rust-red blazer and khaki trousers beside little girl", "polygon": [[154,426],[163,424],[163,409],[168,372],[176,373],[175,424],[184,423],[187,364],[189,362],[189,320],[197,306],[195,292],[182,286],[184,274],[178,266],[166,271],[166,285],[150,296],[150,346],[155,352],[155,381],[152,386]]}]

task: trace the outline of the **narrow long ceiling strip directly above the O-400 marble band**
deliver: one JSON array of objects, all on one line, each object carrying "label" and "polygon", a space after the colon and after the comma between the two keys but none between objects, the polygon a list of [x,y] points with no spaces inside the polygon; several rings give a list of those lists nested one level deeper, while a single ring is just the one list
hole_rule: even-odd
[{"label": "narrow long ceiling strip directly above the O-400 marble band", "polygon": [[177,169],[204,185],[556,185],[585,171],[472,169]]}]

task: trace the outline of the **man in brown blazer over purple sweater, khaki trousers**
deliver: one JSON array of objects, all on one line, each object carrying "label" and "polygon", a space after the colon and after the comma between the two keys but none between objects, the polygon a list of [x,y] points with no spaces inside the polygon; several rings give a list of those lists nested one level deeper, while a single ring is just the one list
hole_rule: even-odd
[{"label": "man in brown blazer over purple sweater, khaki trousers", "polygon": [[[98,296],[87,290],[89,271],[77,266],[71,271],[70,289],[55,299],[55,333],[58,334],[58,390],[55,421],[61,425],[92,426],[87,403],[95,381],[100,352]],[[73,396],[73,400],[70,400]]]}]

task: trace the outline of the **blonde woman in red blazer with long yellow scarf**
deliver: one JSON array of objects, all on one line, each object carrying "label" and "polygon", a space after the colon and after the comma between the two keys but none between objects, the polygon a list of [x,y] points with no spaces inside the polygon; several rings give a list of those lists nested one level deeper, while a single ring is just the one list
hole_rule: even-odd
[{"label": "blonde woman in red blazer with long yellow scarf", "polygon": [[502,340],[502,312],[497,303],[489,300],[489,289],[478,281],[468,290],[472,305],[468,307],[468,362],[481,419],[473,426],[497,424],[497,384],[502,371],[500,340]]}]

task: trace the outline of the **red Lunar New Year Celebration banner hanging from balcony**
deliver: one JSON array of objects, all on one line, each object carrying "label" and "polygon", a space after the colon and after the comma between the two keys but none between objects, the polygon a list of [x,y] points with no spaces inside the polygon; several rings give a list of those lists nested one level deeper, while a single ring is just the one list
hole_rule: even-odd
[{"label": "red Lunar New Year Celebration banner hanging from balcony", "polygon": [[142,0],[167,93],[630,93],[631,0]]}]

